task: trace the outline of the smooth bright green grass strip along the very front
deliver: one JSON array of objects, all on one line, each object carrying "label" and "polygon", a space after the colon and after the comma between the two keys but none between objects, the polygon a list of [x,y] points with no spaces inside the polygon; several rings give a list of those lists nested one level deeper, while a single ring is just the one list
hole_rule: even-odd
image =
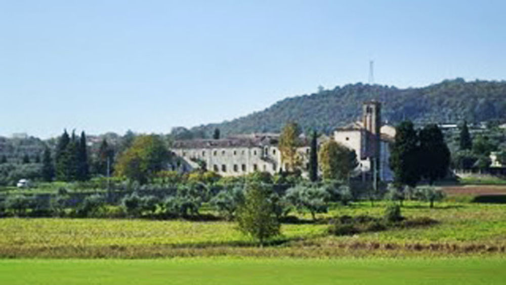
[{"label": "smooth bright green grass strip along the very front", "polygon": [[3,284],[504,284],[506,259],[0,260]]}]

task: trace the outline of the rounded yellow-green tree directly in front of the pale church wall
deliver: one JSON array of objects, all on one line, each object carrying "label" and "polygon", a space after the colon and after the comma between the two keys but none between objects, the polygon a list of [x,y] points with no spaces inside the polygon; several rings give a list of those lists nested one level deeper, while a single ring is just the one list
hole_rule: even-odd
[{"label": "rounded yellow-green tree directly in front of the pale church wall", "polygon": [[325,180],[348,180],[357,167],[357,154],[334,140],[324,143],[318,154],[320,167]]}]

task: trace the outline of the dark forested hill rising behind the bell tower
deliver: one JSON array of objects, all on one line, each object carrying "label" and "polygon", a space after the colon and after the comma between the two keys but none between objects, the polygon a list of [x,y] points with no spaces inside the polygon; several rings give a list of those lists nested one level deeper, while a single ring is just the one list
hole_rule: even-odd
[{"label": "dark forested hill rising behind the bell tower", "polygon": [[222,135],[251,132],[278,132],[288,120],[305,130],[329,132],[357,119],[366,100],[383,103],[383,120],[397,123],[410,119],[415,123],[460,123],[506,119],[506,82],[465,82],[461,78],[444,80],[423,88],[346,85],[316,94],[281,100],[259,112],[225,121],[194,127],[191,133],[210,137],[215,128]]}]

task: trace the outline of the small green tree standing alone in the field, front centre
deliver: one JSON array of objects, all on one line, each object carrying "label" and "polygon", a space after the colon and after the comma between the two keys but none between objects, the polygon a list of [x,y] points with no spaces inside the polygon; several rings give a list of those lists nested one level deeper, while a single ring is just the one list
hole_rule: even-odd
[{"label": "small green tree standing alone in the field, front centre", "polygon": [[246,185],[244,203],[237,209],[239,229],[256,238],[263,245],[264,241],[280,233],[280,227],[272,203],[269,200],[269,189],[259,183]]}]

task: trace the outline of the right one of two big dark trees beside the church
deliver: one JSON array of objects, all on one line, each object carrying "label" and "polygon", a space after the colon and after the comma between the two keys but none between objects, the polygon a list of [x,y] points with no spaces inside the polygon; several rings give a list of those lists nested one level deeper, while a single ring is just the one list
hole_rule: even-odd
[{"label": "right one of two big dark trees beside the church", "polygon": [[433,185],[448,173],[450,166],[450,150],[444,141],[444,136],[435,124],[427,125],[419,133],[420,140],[420,170],[421,176]]}]

